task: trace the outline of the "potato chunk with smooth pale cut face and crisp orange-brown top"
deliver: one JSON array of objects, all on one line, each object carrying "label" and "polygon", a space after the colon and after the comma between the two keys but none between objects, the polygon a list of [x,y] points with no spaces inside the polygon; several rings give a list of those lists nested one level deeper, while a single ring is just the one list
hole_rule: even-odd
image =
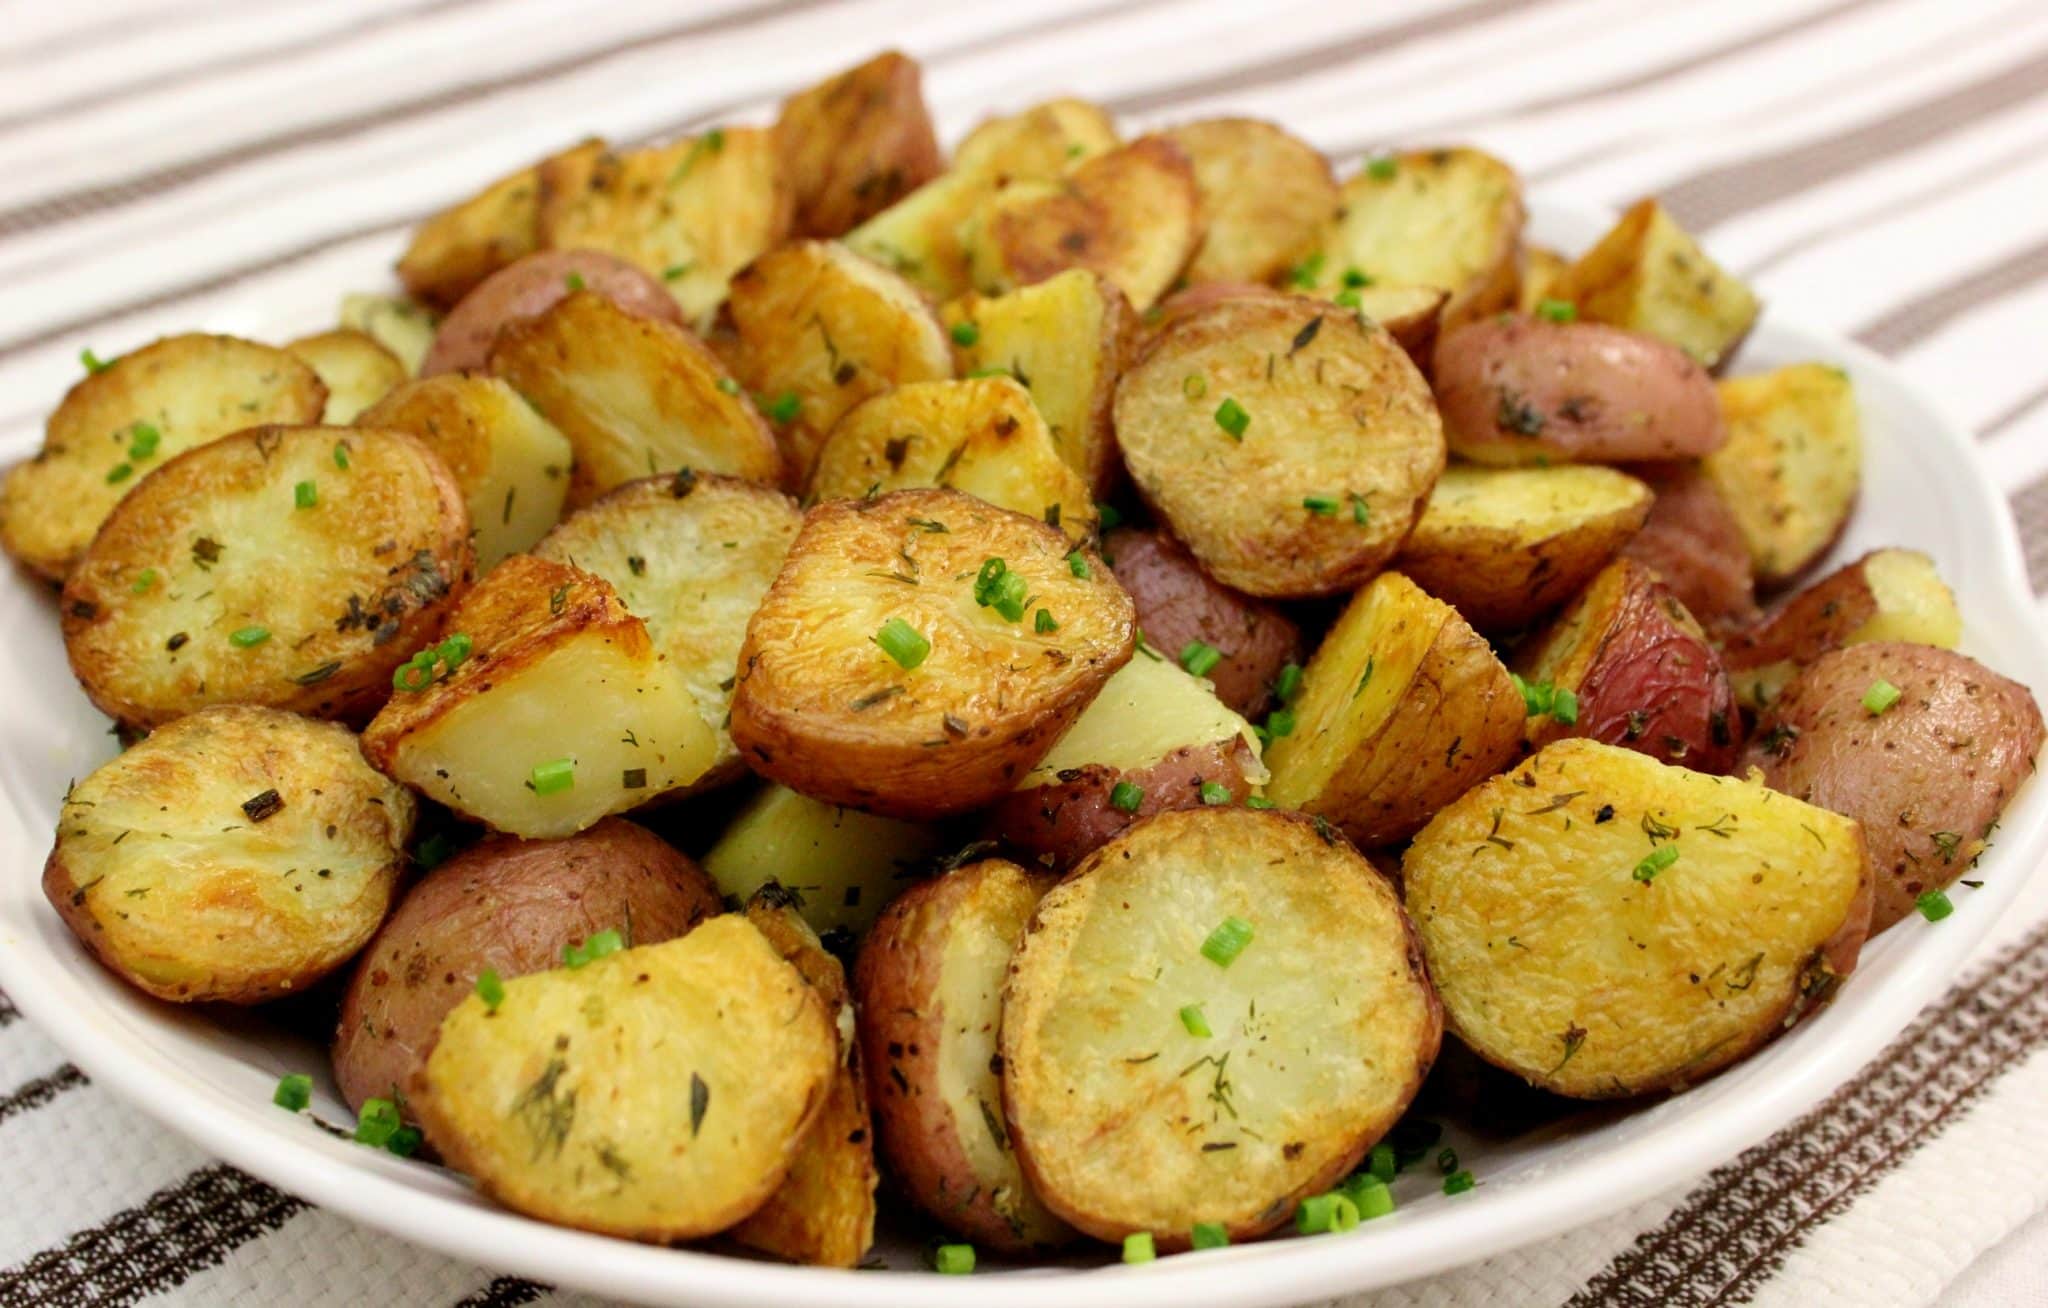
[{"label": "potato chunk with smooth pale cut face and crisp orange-brown top", "polygon": [[571,835],[717,759],[682,673],[602,577],[512,555],[451,628],[471,653],[428,653],[426,675],[412,678],[426,684],[399,684],[362,733],[362,757],[465,817]]}]

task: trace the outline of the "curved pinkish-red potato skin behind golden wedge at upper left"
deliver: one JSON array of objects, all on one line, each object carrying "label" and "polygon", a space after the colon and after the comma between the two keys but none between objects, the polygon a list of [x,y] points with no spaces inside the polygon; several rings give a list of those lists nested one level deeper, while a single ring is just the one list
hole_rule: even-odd
[{"label": "curved pinkish-red potato skin behind golden wedge at upper left", "polygon": [[543,250],[492,272],[440,319],[434,344],[420,360],[420,377],[481,370],[498,330],[553,309],[569,295],[569,278],[635,317],[684,325],[676,297],[623,258],[596,250]]}]

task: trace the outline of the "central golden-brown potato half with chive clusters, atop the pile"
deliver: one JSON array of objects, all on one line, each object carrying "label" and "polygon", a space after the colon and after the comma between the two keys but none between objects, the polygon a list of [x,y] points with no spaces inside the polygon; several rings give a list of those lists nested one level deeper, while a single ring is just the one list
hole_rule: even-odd
[{"label": "central golden-brown potato half with chive clusters, atop the pile", "polygon": [[748,624],[733,743],[813,798],[965,813],[1008,792],[1130,649],[1130,598],[1051,526],[958,491],[834,499]]}]

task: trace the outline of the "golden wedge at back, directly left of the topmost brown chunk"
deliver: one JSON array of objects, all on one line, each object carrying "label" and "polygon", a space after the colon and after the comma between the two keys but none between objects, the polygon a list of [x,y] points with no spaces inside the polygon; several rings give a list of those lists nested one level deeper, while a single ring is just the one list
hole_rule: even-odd
[{"label": "golden wedge at back, directly left of the topmost brown chunk", "polygon": [[788,235],[793,192],[776,133],[713,127],[645,149],[541,166],[541,246],[602,250],[659,276],[702,332],[727,282]]}]

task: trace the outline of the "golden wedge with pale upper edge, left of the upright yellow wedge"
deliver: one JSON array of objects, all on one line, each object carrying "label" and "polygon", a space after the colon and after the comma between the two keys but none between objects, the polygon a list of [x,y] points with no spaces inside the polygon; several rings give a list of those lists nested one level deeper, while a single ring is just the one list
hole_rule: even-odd
[{"label": "golden wedge with pale upper edge, left of the upright yellow wedge", "polygon": [[803,485],[834,424],[862,399],[952,377],[938,315],[907,280],[846,246],[797,242],[748,264],[729,305],[733,373],[797,411],[780,422],[791,485]]}]

